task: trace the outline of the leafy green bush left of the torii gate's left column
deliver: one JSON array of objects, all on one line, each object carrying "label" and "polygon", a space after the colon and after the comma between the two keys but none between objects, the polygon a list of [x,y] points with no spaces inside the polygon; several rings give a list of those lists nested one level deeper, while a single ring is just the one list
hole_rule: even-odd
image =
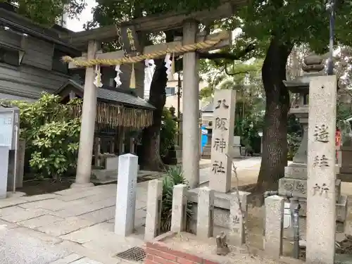
[{"label": "leafy green bush left of the torii gate's left column", "polygon": [[[10,102],[20,108],[20,137],[26,141],[32,172],[56,180],[75,169],[80,139],[80,118],[70,118],[70,106],[60,100],[44,93],[34,103]],[[70,105],[77,103],[81,101]]]}]

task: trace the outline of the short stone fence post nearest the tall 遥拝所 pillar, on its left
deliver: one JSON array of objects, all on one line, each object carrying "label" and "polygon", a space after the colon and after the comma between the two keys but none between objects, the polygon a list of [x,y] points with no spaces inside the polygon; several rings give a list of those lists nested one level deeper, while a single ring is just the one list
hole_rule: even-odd
[{"label": "short stone fence post nearest the tall \u9065\u62dd\u6240 pillar, on its left", "polygon": [[265,198],[265,240],[264,251],[268,256],[279,258],[282,254],[282,233],[284,224],[284,198]]}]

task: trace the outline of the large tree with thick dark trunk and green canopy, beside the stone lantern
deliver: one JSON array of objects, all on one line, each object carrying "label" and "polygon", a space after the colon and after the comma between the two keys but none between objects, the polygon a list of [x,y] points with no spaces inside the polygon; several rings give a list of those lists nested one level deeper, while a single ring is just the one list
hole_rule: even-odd
[{"label": "large tree with thick dark trunk and green canopy, beside the stone lantern", "polygon": [[[344,4],[344,8],[337,8],[336,34],[338,42],[349,45],[351,34],[346,33],[346,25],[352,22],[351,1]],[[326,51],[329,12],[324,1],[253,0],[237,12],[232,23],[241,27],[244,42],[256,42],[257,54],[265,55],[262,80],[266,108],[257,189],[277,189],[287,165],[289,91],[282,82],[287,77],[287,58],[297,44],[309,44],[317,53]]]}]

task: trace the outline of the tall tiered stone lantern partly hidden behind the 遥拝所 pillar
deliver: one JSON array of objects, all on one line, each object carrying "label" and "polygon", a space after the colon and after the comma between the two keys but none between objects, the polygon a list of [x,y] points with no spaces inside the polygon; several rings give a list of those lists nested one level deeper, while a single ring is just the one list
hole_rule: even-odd
[{"label": "tall tiered stone lantern partly hidden behind the \u9065\u62dd\u6240 pillar", "polygon": [[[301,145],[293,158],[293,163],[285,168],[284,177],[279,179],[279,194],[290,192],[295,199],[298,199],[301,210],[299,210],[299,229],[300,237],[306,240],[306,205],[307,205],[307,149],[308,149],[308,103],[309,103],[309,83],[310,77],[322,75],[321,71],[325,68],[322,58],[315,54],[304,59],[302,69],[303,76],[296,77],[294,80],[284,82],[289,91],[298,94],[298,103],[292,106],[289,113],[296,115],[302,126]],[[341,195],[341,180],[335,184],[337,194],[337,232],[344,230],[344,222],[347,213],[347,196]],[[289,204],[285,204],[289,208]],[[284,217],[290,217],[284,215]],[[291,238],[291,227],[284,230],[284,237]]]}]

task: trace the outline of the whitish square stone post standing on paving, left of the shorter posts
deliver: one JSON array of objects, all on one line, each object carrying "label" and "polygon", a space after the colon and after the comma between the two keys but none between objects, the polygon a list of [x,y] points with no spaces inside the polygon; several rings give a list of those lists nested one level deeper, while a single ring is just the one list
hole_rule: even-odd
[{"label": "whitish square stone post standing on paving, left of the shorter posts", "polygon": [[138,157],[121,155],[118,160],[115,234],[127,237],[134,231]]}]

